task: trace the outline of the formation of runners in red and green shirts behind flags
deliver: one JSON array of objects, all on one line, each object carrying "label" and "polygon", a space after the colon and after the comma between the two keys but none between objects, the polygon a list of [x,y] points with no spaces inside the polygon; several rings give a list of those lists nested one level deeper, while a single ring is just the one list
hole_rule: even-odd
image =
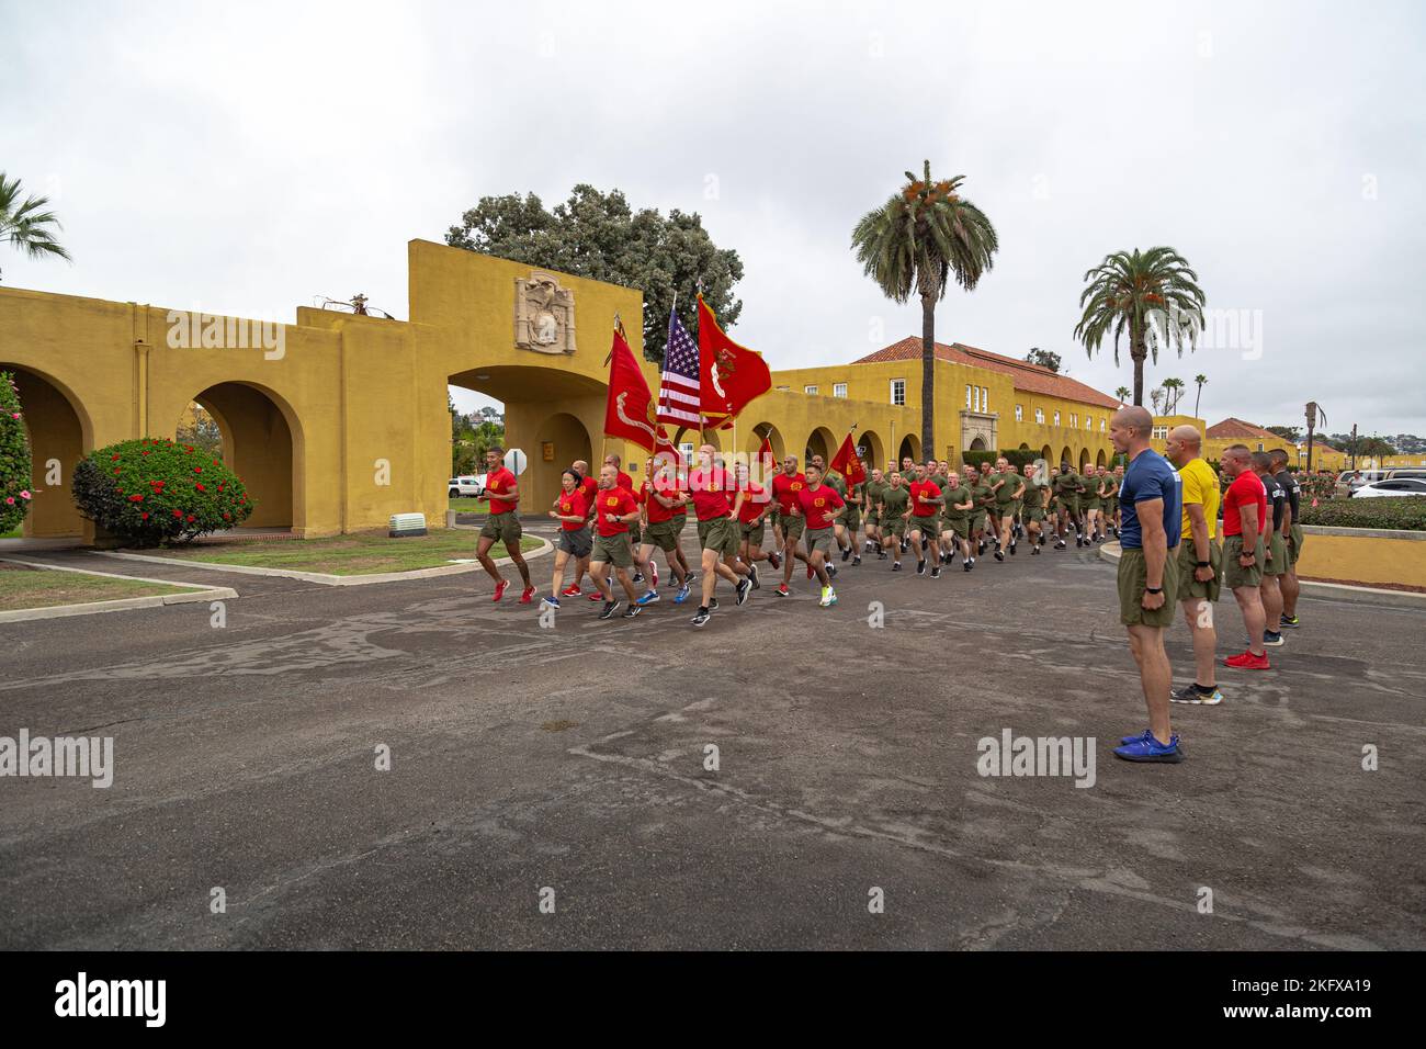
[{"label": "formation of runners in red and green shirts behind flags", "polygon": [[[529,604],[536,591],[519,549],[519,485],[503,465],[503,450],[491,450],[486,465],[491,511],[476,555],[501,601],[509,582],[491,548],[502,541],[523,581],[520,602]],[[1122,472],[1102,465],[1079,472],[1070,464],[1052,474],[1042,464],[1017,471],[1004,458],[953,470],[944,460],[904,458],[900,468],[873,468],[866,481],[848,485],[821,455],[804,470],[789,455],[764,484],[750,477],[746,462],[727,465],[703,445],[692,468],[650,458],[643,482],[635,485],[617,455],[607,455],[597,474],[575,461],[562,472],[560,492],[548,511],[560,528],[550,595],[542,604],[560,608],[563,599],[586,597],[600,605],[600,618],[632,619],[662,599],[655,561],[662,551],[674,604],[690,598],[702,572],[696,627],[719,608],[720,579],[744,604],[761,587],[764,564],[780,572],[774,594],[786,598],[800,562],[807,579],[820,585],[819,604],[830,608],[837,604],[838,562],[860,567],[863,555],[890,561],[897,572],[910,555],[917,575],[938,579],[957,557],[968,572],[987,549],[1004,562],[1021,541],[1038,555],[1051,542],[1065,549],[1071,532],[1077,547],[1118,535]],[[696,571],[682,549],[690,508],[702,551]],[[582,585],[586,575],[595,585],[589,594]]]}]

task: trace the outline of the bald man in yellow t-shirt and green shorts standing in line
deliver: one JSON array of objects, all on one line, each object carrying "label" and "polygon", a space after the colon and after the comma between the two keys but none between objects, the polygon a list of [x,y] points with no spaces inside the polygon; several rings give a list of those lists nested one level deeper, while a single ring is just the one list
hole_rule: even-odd
[{"label": "bald man in yellow t-shirt and green shorts standing in line", "polygon": [[1215,684],[1214,604],[1218,601],[1222,555],[1218,548],[1218,474],[1204,462],[1204,435],[1196,427],[1174,427],[1168,435],[1168,458],[1178,467],[1184,488],[1184,538],[1178,544],[1178,599],[1194,638],[1194,684],[1174,692],[1176,704],[1214,706],[1224,701]]}]

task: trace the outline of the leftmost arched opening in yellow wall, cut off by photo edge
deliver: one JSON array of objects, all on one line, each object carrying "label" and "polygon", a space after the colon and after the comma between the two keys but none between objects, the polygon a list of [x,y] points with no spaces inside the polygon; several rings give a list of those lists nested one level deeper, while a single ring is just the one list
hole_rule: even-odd
[{"label": "leftmost arched opening in yellow wall, cut off by photo edge", "polygon": [[14,364],[0,363],[0,371],[14,375],[21,422],[30,438],[30,494],[34,498],[20,534],[34,539],[84,535],[86,521],[74,505],[70,481],[74,465],[94,447],[88,415],[56,380]]}]

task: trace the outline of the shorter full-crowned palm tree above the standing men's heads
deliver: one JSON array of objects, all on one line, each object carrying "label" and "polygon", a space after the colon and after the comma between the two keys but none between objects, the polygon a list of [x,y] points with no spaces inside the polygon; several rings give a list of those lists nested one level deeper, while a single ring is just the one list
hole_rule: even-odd
[{"label": "shorter full-crowned palm tree above the standing men's heads", "polygon": [[1189,350],[1204,330],[1204,303],[1198,274],[1188,260],[1169,247],[1148,251],[1115,251],[1104,257],[1084,274],[1087,281],[1079,295],[1084,315],[1074,334],[1084,343],[1085,353],[1104,344],[1114,328],[1114,363],[1119,363],[1119,338],[1128,331],[1129,357],[1134,361],[1134,402],[1144,404],[1144,361],[1149,353],[1158,364],[1159,341]]}]

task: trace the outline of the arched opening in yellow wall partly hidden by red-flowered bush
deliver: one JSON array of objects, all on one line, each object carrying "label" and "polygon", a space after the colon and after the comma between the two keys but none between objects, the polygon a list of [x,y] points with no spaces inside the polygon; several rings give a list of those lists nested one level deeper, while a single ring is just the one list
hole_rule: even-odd
[{"label": "arched opening in yellow wall partly hidden by red-flowered bush", "polygon": [[245,528],[305,527],[302,430],[277,394],[247,382],[218,382],[193,398],[178,420],[180,430],[202,415],[221,434],[222,462],[242,478],[257,508]]}]

